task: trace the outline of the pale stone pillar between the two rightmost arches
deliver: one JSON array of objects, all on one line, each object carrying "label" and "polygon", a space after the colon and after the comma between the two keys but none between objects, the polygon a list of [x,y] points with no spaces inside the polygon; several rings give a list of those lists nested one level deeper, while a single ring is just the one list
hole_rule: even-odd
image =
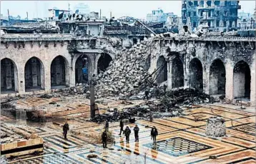
[{"label": "pale stone pillar between the two rightmost arches", "polygon": [[227,100],[232,101],[234,96],[233,96],[233,66],[230,61],[230,59],[227,59],[226,63],[226,98]]}]

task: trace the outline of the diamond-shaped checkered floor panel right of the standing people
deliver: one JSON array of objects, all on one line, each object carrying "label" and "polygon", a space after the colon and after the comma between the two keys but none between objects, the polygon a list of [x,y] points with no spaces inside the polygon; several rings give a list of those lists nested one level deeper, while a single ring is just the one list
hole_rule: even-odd
[{"label": "diamond-shaped checkered floor panel right of the standing people", "polygon": [[157,145],[152,145],[152,143],[148,143],[144,146],[148,148],[153,148],[154,150],[158,150],[163,153],[167,153],[174,157],[212,148],[208,145],[204,145],[202,143],[197,143],[195,141],[187,140],[180,137],[158,141]]}]

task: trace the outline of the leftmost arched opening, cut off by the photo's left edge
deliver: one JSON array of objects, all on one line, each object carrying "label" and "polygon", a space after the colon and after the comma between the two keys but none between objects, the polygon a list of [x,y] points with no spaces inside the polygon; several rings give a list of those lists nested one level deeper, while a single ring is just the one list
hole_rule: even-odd
[{"label": "leftmost arched opening, cut off by the photo's left edge", "polygon": [[18,92],[18,69],[10,58],[1,59],[1,93]]}]

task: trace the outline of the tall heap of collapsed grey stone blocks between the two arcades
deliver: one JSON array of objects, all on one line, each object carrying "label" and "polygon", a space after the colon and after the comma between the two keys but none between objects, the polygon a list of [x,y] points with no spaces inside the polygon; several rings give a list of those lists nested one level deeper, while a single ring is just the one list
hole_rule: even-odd
[{"label": "tall heap of collapsed grey stone blocks between the two arcades", "polygon": [[98,97],[131,96],[137,93],[139,82],[143,81],[148,72],[144,70],[149,41],[141,41],[132,48],[123,48],[116,58],[109,63],[104,72],[97,78]]}]

